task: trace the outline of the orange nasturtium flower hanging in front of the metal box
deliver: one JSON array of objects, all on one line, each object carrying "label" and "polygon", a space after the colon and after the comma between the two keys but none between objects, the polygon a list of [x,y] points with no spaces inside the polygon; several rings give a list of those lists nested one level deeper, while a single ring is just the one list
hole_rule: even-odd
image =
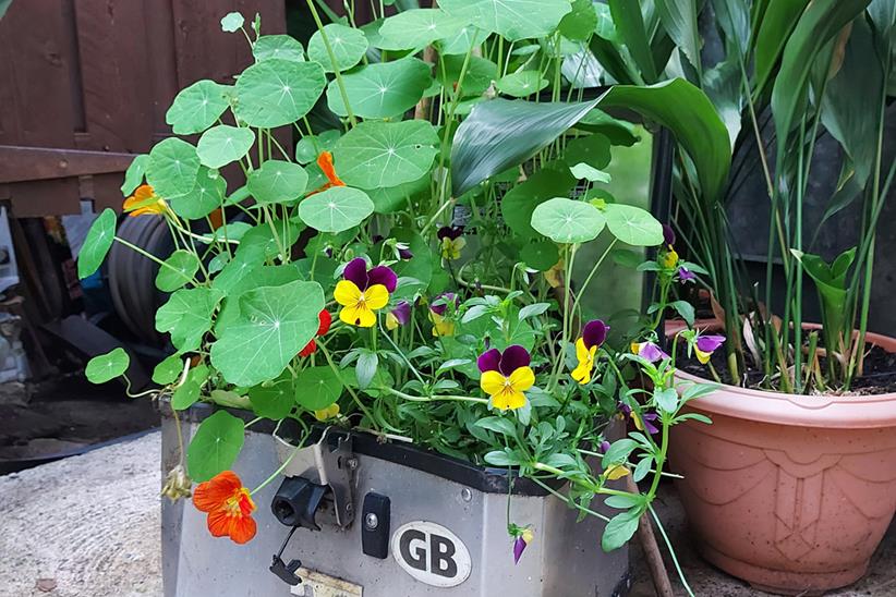
[{"label": "orange nasturtium flower hanging in front of the metal box", "polygon": [[213,537],[230,537],[233,543],[244,544],[255,536],[252,517],[255,502],[233,471],[218,473],[201,483],[193,491],[193,504],[208,513],[208,531]]}]

